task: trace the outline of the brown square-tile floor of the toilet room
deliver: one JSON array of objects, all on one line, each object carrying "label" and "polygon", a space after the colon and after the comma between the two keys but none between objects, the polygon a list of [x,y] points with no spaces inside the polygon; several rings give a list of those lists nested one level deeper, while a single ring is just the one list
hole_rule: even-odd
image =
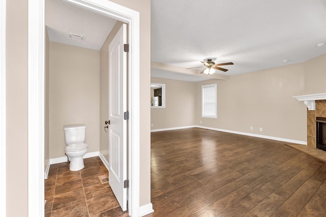
[{"label": "brown square-tile floor of the toilet room", "polygon": [[108,175],[99,157],[84,159],[85,167],[70,171],[69,164],[50,166],[45,179],[45,217],[55,216],[128,216],[122,211],[108,182],[98,176]]}]

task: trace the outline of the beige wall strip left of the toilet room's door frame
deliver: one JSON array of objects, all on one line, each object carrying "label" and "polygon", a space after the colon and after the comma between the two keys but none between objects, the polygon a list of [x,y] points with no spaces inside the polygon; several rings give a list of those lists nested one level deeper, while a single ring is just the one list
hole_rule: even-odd
[{"label": "beige wall strip left of the toilet room's door frame", "polygon": [[7,1],[7,216],[28,213],[27,4]]}]

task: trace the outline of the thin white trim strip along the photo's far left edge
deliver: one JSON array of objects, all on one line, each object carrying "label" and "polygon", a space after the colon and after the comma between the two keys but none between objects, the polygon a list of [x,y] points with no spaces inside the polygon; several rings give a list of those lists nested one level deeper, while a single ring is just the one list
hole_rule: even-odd
[{"label": "thin white trim strip along the photo's far left edge", "polygon": [[6,6],[6,0],[0,1],[0,216],[7,216]]}]

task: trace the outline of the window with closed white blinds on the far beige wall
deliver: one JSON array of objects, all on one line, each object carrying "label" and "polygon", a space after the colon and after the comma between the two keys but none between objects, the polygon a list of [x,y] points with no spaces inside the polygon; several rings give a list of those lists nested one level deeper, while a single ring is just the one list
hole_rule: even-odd
[{"label": "window with closed white blinds on the far beige wall", "polygon": [[216,84],[202,86],[202,117],[218,117]]}]

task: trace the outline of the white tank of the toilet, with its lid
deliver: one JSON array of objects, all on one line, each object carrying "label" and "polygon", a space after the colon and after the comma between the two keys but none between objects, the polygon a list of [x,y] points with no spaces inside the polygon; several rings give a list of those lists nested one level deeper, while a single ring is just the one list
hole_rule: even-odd
[{"label": "white tank of the toilet, with its lid", "polygon": [[65,126],[63,128],[65,133],[66,144],[83,143],[85,141],[85,125]]}]

